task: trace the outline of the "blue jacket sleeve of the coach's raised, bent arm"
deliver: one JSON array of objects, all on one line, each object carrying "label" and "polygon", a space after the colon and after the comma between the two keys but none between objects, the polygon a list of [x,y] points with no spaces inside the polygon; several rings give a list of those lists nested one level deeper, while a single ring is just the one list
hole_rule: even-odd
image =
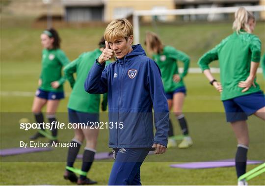
[{"label": "blue jacket sleeve of the coach's raised, bent arm", "polygon": [[84,83],[84,89],[89,94],[104,94],[107,92],[107,76],[105,65],[94,63]]}]

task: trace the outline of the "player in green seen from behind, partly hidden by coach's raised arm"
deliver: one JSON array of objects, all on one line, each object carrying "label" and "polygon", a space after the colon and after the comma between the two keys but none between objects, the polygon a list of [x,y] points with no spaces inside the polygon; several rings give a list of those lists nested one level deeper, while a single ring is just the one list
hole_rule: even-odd
[{"label": "player in green seen from behind, partly hidden by coach's raised arm", "polygon": [[[100,94],[89,94],[84,90],[84,82],[91,67],[94,65],[95,60],[99,58],[102,51],[105,49],[104,37],[99,42],[99,49],[95,49],[91,52],[82,53],[77,59],[69,63],[64,68],[64,74],[69,80],[71,87],[73,88],[69,102],[68,102],[68,115],[70,123],[81,123],[82,126],[74,129],[75,136],[72,139],[72,146],[69,147],[67,156],[67,166],[64,173],[64,178],[71,182],[77,182],[78,185],[96,184],[97,182],[86,178],[86,174],[89,171],[94,155],[96,153],[96,144],[99,129],[93,127],[90,129],[90,125],[99,122],[99,105]],[[75,80],[73,74],[77,74]],[[107,97],[104,94],[104,100],[102,103],[102,110],[106,110]],[[74,162],[77,158],[79,148],[82,145],[83,140],[86,140],[86,146],[83,152],[83,161],[80,177],[76,176],[73,172]]]}]

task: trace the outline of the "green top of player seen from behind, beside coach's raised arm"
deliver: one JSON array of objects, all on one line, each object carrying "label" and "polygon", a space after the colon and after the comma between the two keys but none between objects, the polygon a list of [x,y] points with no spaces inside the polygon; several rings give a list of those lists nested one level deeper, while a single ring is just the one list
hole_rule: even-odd
[{"label": "green top of player seen from behind, beside coach's raised arm", "polygon": [[[89,94],[84,90],[84,82],[88,72],[95,63],[95,60],[102,52],[96,49],[91,52],[82,53],[77,59],[64,68],[64,74],[73,88],[69,98],[68,108],[79,112],[98,113],[100,94]],[[77,73],[75,80],[73,74]],[[105,97],[106,99],[106,97]]]}]

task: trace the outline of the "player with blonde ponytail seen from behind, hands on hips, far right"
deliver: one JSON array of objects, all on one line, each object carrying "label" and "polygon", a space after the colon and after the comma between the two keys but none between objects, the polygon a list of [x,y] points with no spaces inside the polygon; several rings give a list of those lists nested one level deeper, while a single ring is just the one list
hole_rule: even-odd
[{"label": "player with blonde ponytail seen from behind, hands on hips, far right", "polygon": [[[235,32],[199,59],[199,66],[210,83],[221,93],[226,119],[232,124],[238,140],[236,170],[238,185],[246,185],[240,176],[246,172],[249,135],[247,117],[251,114],[265,120],[265,98],[256,82],[261,57],[261,41],[253,35],[256,22],[253,13],[240,7],[235,13]],[[221,82],[211,74],[209,63],[219,60]]]}]

